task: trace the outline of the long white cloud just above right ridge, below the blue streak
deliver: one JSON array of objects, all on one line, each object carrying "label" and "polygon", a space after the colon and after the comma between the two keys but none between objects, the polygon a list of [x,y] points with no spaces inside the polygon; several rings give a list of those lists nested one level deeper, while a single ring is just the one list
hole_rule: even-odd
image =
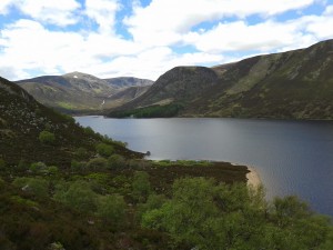
[{"label": "long white cloud just above right ridge, below the blue streak", "polygon": [[204,52],[274,50],[285,44],[299,42],[302,34],[294,23],[266,21],[249,26],[244,21],[219,23],[214,29],[204,32],[191,32],[184,41]]}]

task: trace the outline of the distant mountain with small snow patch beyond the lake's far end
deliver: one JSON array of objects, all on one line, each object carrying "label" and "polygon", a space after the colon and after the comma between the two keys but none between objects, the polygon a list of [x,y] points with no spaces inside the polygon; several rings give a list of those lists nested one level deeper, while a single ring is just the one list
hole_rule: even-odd
[{"label": "distant mountain with small snow patch beyond the lake's far end", "polygon": [[[39,102],[64,112],[93,112],[123,104],[142,93],[150,80],[137,78],[99,79],[91,74],[72,72],[63,76],[43,76],[17,81]],[[118,94],[132,88],[137,94]],[[117,98],[119,97],[119,98]]]}]

